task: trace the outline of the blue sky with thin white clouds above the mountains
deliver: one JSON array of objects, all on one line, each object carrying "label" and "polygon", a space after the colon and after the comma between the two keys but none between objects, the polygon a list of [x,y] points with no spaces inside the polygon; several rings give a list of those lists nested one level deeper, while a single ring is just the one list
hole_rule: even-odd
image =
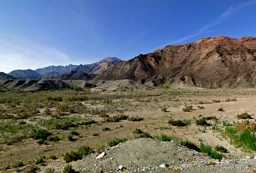
[{"label": "blue sky with thin white clouds above the mountains", "polygon": [[0,0],[0,71],[130,60],[203,37],[256,37],[256,0]]}]

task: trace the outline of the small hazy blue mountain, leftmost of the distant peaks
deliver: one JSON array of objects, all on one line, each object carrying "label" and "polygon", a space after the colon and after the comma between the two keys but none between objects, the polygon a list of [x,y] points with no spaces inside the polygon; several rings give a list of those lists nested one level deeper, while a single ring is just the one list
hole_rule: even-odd
[{"label": "small hazy blue mountain, leftmost of the distant peaks", "polygon": [[42,79],[43,75],[36,73],[34,70],[14,70],[8,73],[16,79]]}]

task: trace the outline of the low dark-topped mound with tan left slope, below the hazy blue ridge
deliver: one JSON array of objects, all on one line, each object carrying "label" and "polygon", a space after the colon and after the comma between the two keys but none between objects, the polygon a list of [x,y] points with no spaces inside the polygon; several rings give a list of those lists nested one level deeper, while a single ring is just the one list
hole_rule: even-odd
[{"label": "low dark-topped mound with tan left slope, below the hazy blue ridge", "polygon": [[25,91],[46,91],[46,90],[64,90],[71,86],[59,80],[41,80],[25,88]]}]

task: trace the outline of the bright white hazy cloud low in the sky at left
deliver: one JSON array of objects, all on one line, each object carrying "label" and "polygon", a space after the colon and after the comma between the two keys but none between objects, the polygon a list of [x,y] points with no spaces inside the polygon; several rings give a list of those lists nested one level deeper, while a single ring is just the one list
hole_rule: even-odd
[{"label": "bright white hazy cloud low in the sky at left", "polygon": [[38,69],[49,65],[70,64],[69,58],[55,48],[33,43],[28,39],[0,36],[0,71]]}]

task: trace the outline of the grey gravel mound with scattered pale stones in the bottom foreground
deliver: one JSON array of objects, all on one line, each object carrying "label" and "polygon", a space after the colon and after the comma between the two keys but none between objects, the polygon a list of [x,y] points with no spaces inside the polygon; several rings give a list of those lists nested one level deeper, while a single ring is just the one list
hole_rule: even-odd
[{"label": "grey gravel mound with scattered pale stones in the bottom foreground", "polygon": [[[77,172],[253,172],[256,158],[216,161],[195,150],[174,142],[139,138],[109,147],[98,157],[93,153],[82,160],[71,162]],[[63,172],[67,165],[63,159],[39,166],[36,172],[55,169]],[[19,172],[27,172],[28,166]],[[10,170],[12,171],[12,170]]]}]

